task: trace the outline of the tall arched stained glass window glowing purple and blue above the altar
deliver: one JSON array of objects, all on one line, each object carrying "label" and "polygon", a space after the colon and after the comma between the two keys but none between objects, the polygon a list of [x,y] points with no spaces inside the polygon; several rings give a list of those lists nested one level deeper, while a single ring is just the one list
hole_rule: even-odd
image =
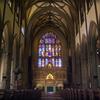
[{"label": "tall arched stained glass window glowing purple and blue above the altar", "polygon": [[38,67],[62,66],[61,42],[53,33],[46,33],[39,41]]}]

